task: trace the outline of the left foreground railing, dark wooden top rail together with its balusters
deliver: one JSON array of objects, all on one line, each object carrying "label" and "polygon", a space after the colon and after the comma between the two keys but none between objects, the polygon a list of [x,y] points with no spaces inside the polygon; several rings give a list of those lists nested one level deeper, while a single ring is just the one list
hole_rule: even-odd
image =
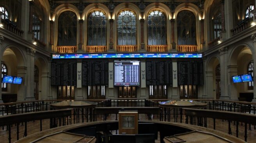
[{"label": "left foreground railing, dark wooden top rail together with its balusters", "polygon": [[[50,128],[57,126],[64,126],[71,124],[71,109],[51,110],[41,112],[30,112],[22,114],[14,114],[0,117],[0,126],[7,126],[9,131],[9,143],[11,143],[11,125],[15,124],[17,127],[16,134],[19,140],[19,125],[25,123],[25,130],[23,137],[27,136],[27,122],[40,120],[40,131],[42,131],[42,120],[50,119]],[[62,121],[61,121],[62,120]],[[57,123],[59,122],[59,124]],[[62,122],[62,123],[61,123]]]}]

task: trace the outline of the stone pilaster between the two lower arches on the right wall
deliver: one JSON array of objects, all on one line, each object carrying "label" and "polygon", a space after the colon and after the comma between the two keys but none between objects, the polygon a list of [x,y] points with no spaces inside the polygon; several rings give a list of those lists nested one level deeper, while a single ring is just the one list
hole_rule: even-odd
[{"label": "stone pilaster between the two lower arches on the right wall", "polygon": [[220,53],[220,99],[229,99],[229,83],[228,83],[228,47],[219,49]]}]

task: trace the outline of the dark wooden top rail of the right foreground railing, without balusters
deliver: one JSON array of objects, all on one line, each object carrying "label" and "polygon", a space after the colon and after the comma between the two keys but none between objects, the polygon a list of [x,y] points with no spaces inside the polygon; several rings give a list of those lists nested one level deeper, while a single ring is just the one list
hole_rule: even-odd
[{"label": "dark wooden top rail of the right foreground railing, without balusters", "polygon": [[183,108],[183,110],[187,116],[231,120],[256,125],[256,115],[252,114],[191,108]]}]

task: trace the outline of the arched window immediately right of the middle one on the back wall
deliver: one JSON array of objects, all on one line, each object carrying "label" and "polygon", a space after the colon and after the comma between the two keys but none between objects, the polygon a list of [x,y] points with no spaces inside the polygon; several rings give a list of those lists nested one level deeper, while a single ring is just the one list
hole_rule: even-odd
[{"label": "arched window immediately right of the middle one on the back wall", "polygon": [[167,45],[166,43],[166,17],[159,10],[148,13],[148,45]]}]

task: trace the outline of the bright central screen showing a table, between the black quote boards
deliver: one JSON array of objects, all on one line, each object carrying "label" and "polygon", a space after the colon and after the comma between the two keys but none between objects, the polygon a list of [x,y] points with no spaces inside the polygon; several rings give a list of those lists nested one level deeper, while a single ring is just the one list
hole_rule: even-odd
[{"label": "bright central screen showing a table, between the black quote boards", "polygon": [[115,86],[140,85],[140,61],[114,61]]}]

